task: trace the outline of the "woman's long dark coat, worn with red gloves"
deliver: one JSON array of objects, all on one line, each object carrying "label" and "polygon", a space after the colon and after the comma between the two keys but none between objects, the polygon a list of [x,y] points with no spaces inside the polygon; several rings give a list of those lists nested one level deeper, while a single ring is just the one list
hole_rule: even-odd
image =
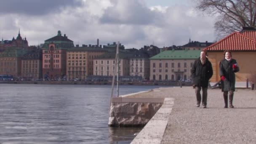
[{"label": "woman's long dark coat, worn with red gloves", "polygon": [[224,81],[221,80],[222,91],[235,91],[235,72],[239,72],[239,67],[233,69],[233,64],[237,64],[235,59],[223,59],[219,64],[219,75],[225,77]]}]

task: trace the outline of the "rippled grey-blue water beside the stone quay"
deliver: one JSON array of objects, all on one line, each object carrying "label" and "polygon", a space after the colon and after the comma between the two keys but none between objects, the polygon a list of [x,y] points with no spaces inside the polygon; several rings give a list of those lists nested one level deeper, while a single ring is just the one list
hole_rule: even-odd
[{"label": "rippled grey-blue water beside the stone quay", "polygon": [[[120,85],[119,94],[157,87]],[[141,128],[108,127],[110,93],[111,85],[0,84],[0,144],[129,144]]]}]

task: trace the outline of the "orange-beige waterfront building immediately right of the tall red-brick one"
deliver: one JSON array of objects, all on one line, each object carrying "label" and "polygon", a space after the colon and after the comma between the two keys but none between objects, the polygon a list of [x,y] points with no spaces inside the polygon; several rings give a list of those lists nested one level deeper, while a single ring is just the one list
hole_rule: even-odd
[{"label": "orange-beige waterfront building immediately right of the tall red-brick one", "polygon": [[67,80],[93,75],[93,60],[107,51],[99,47],[75,47],[67,51]]}]

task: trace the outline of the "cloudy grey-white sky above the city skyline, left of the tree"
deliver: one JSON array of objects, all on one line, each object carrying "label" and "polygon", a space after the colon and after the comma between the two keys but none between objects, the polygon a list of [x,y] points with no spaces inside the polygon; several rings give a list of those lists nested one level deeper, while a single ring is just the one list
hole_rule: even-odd
[{"label": "cloudy grey-white sky above the city skyline, left of the tree", "polygon": [[29,45],[66,34],[74,44],[120,41],[125,48],[215,41],[213,17],[192,0],[1,0],[0,38],[26,37]]}]

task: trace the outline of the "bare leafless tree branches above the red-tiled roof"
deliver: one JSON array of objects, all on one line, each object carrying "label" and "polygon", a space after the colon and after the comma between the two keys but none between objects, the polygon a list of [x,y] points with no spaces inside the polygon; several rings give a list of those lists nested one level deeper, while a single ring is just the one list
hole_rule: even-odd
[{"label": "bare leafless tree branches above the red-tiled roof", "polygon": [[243,27],[256,27],[256,0],[196,0],[197,10],[217,14],[214,24],[218,37]]}]

